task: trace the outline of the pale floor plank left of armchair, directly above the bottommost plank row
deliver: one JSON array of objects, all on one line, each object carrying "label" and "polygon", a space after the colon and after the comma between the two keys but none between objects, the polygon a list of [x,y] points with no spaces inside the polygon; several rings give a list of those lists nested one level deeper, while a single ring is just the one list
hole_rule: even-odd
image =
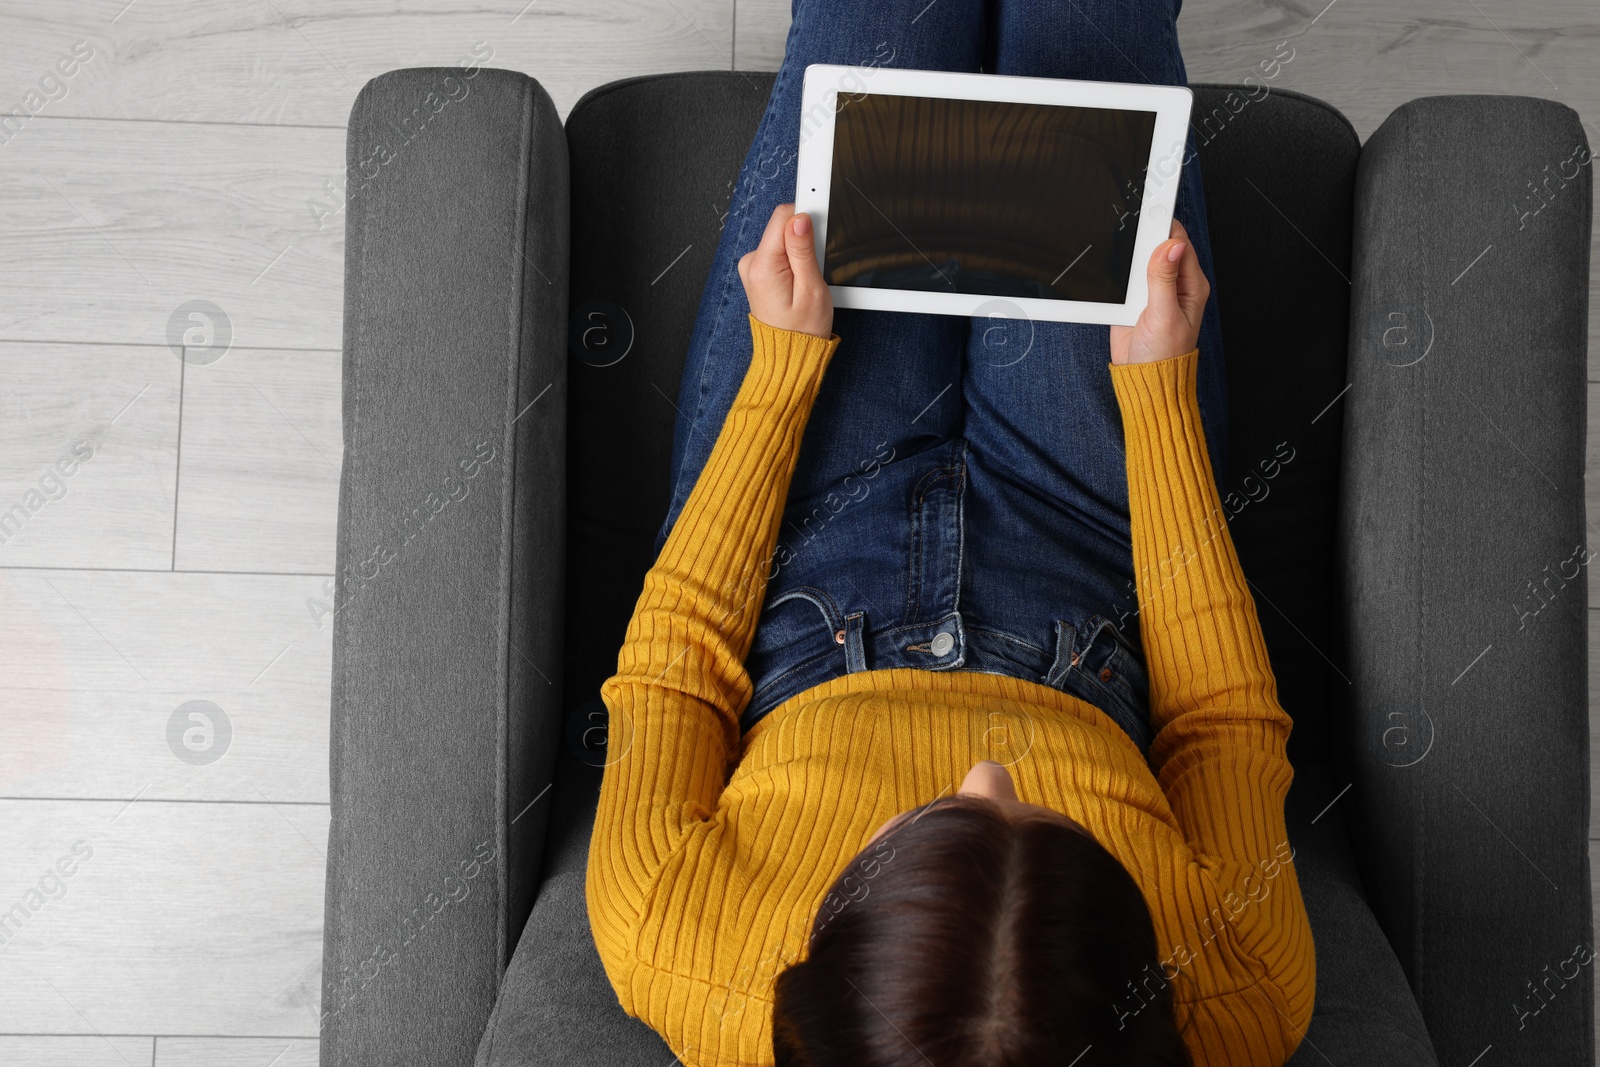
[{"label": "pale floor plank left of armchair, directly above the bottommost plank row", "polygon": [[0,800],[0,907],[38,901],[5,945],[6,1025],[315,1037],[326,825],[320,805]]}]

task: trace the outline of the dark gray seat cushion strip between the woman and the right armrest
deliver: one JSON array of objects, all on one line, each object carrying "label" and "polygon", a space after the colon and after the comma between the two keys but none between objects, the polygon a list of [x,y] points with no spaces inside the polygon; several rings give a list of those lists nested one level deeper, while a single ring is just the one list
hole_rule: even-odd
[{"label": "dark gray seat cushion strip between the woman and the right armrest", "polygon": [[[1294,718],[1290,763],[1328,758],[1339,680],[1334,512],[1360,141],[1315,98],[1194,86],[1227,362],[1229,534]],[[1237,109],[1237,110],[1235,110]],[[1318,414],[1322,418],[1318,418]],[[1280,458],[1283,458],[1280,461]]]}]

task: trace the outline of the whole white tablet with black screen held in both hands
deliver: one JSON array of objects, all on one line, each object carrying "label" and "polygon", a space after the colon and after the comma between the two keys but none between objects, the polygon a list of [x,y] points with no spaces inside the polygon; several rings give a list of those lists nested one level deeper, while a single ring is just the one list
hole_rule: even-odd
[{"label": "whole white tablet with black screen held in both hands", "polygon": [[1192,101],[1178,85],[808,66],[795,211],[834,306],[1131,326]]}]

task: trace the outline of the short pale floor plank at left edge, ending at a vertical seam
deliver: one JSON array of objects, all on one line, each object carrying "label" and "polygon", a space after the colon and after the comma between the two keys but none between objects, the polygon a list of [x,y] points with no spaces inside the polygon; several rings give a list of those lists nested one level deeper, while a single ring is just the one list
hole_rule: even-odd
[{"label": "short pale floor plank at left edge, ending at a vertical seam", "polygon": [[0,342],[0,566],[171,565],[179,370],[165,347]]}]

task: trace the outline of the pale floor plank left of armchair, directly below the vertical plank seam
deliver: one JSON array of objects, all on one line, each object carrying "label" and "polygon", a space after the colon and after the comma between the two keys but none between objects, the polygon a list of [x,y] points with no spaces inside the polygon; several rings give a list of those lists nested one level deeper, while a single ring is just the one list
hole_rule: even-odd
[{"label": "pale floor plank left of armchair, directly below the vertical plank seam", "polygon": [[323,582],[0,571],[0,797],[326,803]]}]

